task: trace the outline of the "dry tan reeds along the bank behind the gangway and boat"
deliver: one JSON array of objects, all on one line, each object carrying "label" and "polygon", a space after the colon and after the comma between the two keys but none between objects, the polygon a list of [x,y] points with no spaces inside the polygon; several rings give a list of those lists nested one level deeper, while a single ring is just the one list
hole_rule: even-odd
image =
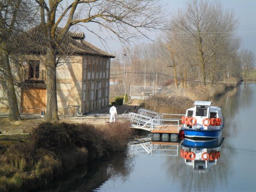
[{"label": "dry tan reeds along the bank behind the gangway and boat", "polygon": [[185,96],[152,96],[141,104],[142,108],[158,113],[185,113],[195,101],[211,101],[226,93],[227,90],[239,83],[237,79],[221,81],[220,84],[199,84],[185,90]]}]

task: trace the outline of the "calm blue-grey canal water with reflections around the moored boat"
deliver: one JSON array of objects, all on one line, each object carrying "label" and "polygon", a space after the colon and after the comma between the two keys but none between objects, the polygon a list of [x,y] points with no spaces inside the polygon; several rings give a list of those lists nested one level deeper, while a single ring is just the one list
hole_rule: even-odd
[{"label": "calm blue-grey canal water with reflections around the moored boat", "polygon": [[126,154],[81,167],[47,191],[255,191],[256,85],[236,87],[213,105],[225,116],[224,140],[195,148],[215,154],[207,163],[198,166],[186,160],[181,153],[189,148],[183,141],[133,144]]}]

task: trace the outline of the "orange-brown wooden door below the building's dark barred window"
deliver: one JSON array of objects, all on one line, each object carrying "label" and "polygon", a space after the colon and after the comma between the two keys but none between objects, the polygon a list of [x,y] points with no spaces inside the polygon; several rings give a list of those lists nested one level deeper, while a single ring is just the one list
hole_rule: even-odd
[{"label": "orange-brown wooden door below the building's dark barred window", "polygon": [[46,89],[29,88],[23,92],[23,113],[41,113],[46,111]]}]

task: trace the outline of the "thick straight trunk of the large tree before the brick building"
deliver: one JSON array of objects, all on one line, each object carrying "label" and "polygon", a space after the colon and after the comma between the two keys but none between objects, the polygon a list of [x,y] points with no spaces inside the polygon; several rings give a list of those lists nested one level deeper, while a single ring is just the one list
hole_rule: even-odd
[{"label": "thick straight trunk of the large tree before the brick building", "polygon": [[56,88],[56,55],[53,48],[47,48],[46,54],[47,111],[44,119],[58,120],[57,88]]}]

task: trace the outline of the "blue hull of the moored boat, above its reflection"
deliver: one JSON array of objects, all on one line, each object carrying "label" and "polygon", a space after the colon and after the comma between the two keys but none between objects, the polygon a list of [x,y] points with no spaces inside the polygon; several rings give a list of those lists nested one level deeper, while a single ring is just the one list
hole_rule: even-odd
[{"label": "blue hull of the moored boat, above its reflection", "polygon": [[207,139],[207,138],[218,138],[221,136],[222,128],[221,129],[212,129],[212,130],[197,130],[197,129],[191,129],[191,128],[185,128],[184,130],[184,136],[187,138],[201,138],[201,139]]}]

